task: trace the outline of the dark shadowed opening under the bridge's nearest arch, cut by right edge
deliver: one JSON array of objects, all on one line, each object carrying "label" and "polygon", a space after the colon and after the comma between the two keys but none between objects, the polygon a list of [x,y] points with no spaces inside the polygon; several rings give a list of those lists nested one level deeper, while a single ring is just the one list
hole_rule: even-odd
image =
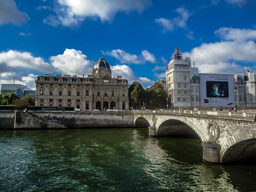
[{"label": "dark shadowed opening under the bridge's nearest arch, cut by right edge", "polygon": [[230,146],[222,156],[221,163],[251,163],[256,160],[256,138],[246,139]]}]

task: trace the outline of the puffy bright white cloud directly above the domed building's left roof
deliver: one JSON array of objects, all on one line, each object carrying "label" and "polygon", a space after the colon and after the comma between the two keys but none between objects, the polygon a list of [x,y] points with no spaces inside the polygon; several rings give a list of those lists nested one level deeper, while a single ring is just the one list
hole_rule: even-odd
[{"label": "puffy bright white cloud directly above the domed building's left roof", "polygon": [[87,75],[91,74],[93,68],[93,61],[87,60],[87,56],[82,51],[74,49],[66,49],[63,54],[52,56],[50,60],[52,66],[63,75]]}]

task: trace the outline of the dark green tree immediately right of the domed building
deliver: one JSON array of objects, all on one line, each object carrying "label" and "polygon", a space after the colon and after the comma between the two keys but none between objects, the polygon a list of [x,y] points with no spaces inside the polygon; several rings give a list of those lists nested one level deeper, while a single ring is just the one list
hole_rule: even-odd
[{"label": "dark green tree immediately right of the domed building", "polygon": [[129,87],[129,99],[135,106],[146,103],[146,91],[139,82],[133,82]]}]

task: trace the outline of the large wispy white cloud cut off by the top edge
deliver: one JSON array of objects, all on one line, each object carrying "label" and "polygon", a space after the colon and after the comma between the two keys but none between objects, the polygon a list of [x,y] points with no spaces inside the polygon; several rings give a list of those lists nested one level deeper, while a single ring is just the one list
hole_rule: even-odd
[{"label": "large wispy white cloud cut off by the top edge", "polygon": [[85,18],[100,18],[102,22],[111,22],[118,12],[141,13],[150,4],[151,0],[58,0],[55,15],[49,15],[44,22],[54,26],[76,26]]}]

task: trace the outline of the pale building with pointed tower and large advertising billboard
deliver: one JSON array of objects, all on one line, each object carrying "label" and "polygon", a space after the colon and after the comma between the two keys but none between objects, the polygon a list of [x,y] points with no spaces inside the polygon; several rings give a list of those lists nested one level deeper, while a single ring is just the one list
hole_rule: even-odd
[{"label": "pale building with pointed tower and large advertising billboard", "polygon": [[203,74],[182,59],[175,49],[165,75],[171,107],[256,107],[256,76],[245,74]]}]

